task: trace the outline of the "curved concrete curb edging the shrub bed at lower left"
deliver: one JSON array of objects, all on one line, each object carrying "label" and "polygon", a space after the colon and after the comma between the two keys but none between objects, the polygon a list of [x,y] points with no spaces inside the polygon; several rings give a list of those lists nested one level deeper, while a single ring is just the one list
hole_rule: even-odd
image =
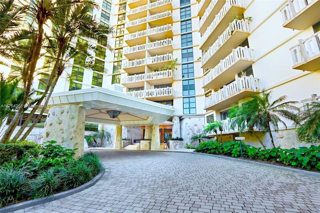
[{"label": "curved concrete curb edging the shrub bed at lower left", "polygon": [[59,192],[56,194],[51,194],[46,197],[40,197],[40,198],[36,198],[36,199],[24,201],[24,202],[18,202],[15,204],[7,205],[7,206],[0,208],[0,213],[11,212],[11,211],[16,211],[16,210],[19,210],[22,208],[32,207],[34,205],[43,204],[45,202],[53,201],[53,200],[60,199],[60,198],[72,195],[74,193],[80,192],[80,191],[94,185],[103,176],[103,174],[104,174],[104,168],[95,177],[93,177],[90,181],[88,181],[78,187],[71,188],[67,191],[62,191],[62,192]]}]

